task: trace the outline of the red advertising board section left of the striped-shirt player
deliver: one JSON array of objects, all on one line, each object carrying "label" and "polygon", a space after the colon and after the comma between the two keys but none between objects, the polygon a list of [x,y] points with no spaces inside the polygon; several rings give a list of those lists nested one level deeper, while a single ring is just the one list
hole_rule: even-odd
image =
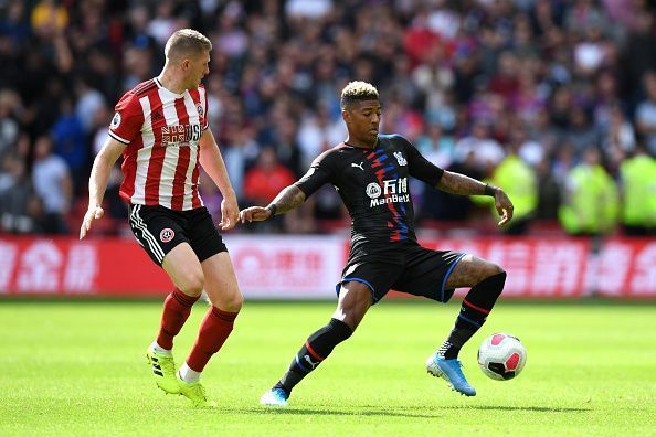
[{"label": "red advertising board section left of the striped-shirt player", "polygon": [[0,294],[148,296],[170,288],[129,239],[0,238]]}]

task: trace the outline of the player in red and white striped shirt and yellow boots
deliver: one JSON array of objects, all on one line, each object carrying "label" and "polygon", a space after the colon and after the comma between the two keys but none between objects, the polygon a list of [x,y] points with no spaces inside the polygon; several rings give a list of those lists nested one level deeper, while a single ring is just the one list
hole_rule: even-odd
[{"label": "player in red and white striped shirt and yellow boots", "polygon": [[[88,210],[80,228],[82,239],[93,221],[103,216],[109,171],[123,153],[120,198],[129,204],[131,230],[176,286],[165,300],[159,333],[146,355],[158,387],[198,406],[208,404],[200,374],[230,335],[243,301],[225,245],[198,192],[200,163],[223,194],[219,225],[234,227],[236,196],[208,127],[208,98],[201,85],[211,50],[201,33],[177,31],[167,41],[161,74],[118,102],[107,140],[94,161]],[[173,338],[203,289],[211,307],[176,373]]]}]

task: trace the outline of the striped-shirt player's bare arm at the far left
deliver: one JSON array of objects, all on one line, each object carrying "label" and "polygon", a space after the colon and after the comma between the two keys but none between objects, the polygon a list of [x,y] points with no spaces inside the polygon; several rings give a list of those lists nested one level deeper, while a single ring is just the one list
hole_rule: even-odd
[{"label": "striped-shirt player's bare arm at the far left", "polygon": [[91,228],[94,220],[100,218],[105,213],[103,211],[103,196],[107,190],[107,182],[112,167],[125,150],[125,145],[107,137],[105,145],[96,156],[94,166],[92,168],[91,177],[88,179],[88,207],[82,226],[80,226],[80,239],[84,238]]}]

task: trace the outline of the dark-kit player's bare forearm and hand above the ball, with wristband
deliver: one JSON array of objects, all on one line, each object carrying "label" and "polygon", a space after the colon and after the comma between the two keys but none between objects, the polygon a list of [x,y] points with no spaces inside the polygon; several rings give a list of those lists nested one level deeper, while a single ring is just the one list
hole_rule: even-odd
[{"label": "dark-kit player's bare forearm and hand above the ball, with wristband", "polygon": [[506,192],[498,186],[488,185],[461,173],[444,171],[435,188],[451,194],[491,195],[495,198],[495,207],[501,217],[498,223],[499,226],[512,218],[512,211],[515,209],[512,202],[510,202]]}]

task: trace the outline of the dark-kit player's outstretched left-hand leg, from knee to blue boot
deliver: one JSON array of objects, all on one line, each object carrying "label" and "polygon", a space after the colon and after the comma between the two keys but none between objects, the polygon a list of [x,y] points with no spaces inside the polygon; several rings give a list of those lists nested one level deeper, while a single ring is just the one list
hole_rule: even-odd
[{"label": "dark-kit player's outstretched left-hand leg, from knee to blue boot", "polygon": [[337,309],[321,329],[313,333],[300,348],[287,372],[260,401],[264,405],[286,406],[292,390],[313,372],[335,347],[347,340],[372,303],[372,289],[360,281],[341,285]]}]

